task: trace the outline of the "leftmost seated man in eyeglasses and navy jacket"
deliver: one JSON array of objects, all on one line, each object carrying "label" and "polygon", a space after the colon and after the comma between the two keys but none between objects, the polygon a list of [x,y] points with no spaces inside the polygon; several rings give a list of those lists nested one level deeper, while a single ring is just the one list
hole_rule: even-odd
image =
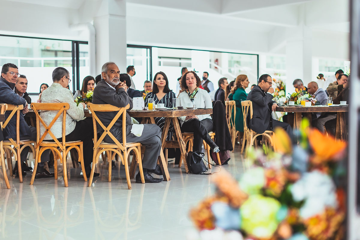
[{"label": "leftmost seated man in eyeglasses and navy jacket", "polygon": [[[6,104],[13,104],[13,105],[23,105],[24,110],[23,114],[20,114],[20,120],[19,120],[19,134],[20,134],[20,140],[30,139],[30,140],[36,140],[36,128],[35,127],[29,127],[24,119],[24,113],[28,111],[27,109],[27,102],[24,98],[19,96],[15,93],[15,83],[18,80],[18,77],[20,76],[18,67],[13,63],[6,63],[3,65],[3,68],[1,69],[1,77],[0,77],[0,103],[6,103]],[[5,113],[5,119],[9,117],[11,111],[6,111]],[[16,117],[13,117],[8,125],[3,130],[4,138],[5,139],[16,139]],[[29,147],[24,148],[21,151],[20,159],[21,159],[21,165],[18,166],[18,163],[15,163],[13,174],[17,176],[19,172],[22,172],[22,176],[26,175],[26,171],[31,171],[32,168],[26,166],[25,161],[27,158],[27,154],[29,152]],[[36,178],[43,178],[43,177],[53,177],[54,173],[48,172],[46,169],[44,169],[44,162],[48,162],[50,157],[50,150],[45,151],[41,155],[41,163],[39,163],[39,167],[36,171]]]}]

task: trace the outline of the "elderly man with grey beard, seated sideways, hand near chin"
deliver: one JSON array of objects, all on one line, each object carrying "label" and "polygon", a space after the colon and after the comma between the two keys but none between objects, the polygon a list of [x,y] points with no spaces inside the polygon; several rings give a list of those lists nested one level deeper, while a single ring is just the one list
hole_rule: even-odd
[{"label": "elderly man with grey beard, seated sideways, hand near chin", "polygon": [[[130,104],[132,108],[132,100],[126,92],[126,83],[120,82],[120,71],[113,62],[107,62],[101,69],[102,80],[96,85],[93,95],[94,104],[110,104],[115,107],[126,107]],[[105,126],[113,120],[117,112],[97,112],[96,115]],[[103,129],[99,129],[101,133]],[[122,117],[118,118],[110,132],[117,140],[122,142]],[[104,141],[114,144],[114,141],[107,135]],[[126,113],[126,141],[140,142],[145,146],[143,157],[143,171],[145,182],[157,183],[162,178],[154,178],[151,173],[162,175],[157,159],[161,151],[161,129],[155,124],[131,124],[129,113]],[[135,178],[137,183],[141,183],[140,173]]]}]

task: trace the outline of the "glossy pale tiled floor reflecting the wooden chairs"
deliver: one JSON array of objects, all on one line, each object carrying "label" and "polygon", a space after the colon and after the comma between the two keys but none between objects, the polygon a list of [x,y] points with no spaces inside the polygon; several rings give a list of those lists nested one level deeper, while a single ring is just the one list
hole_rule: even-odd
[{"label": "glossy pale tiled floor reflecting the wooden chairs", "polygon": [[[241,159],[239,151],[231,153],[229,164],[221,169],[239,178]],[[100,162],[100,177],[94,178],[92,187],[70,161],[69,187],[64,187],[62,171],[58,180],[35,179],[33,186],[28,172],[22,184],[10,178],[8,190],[0,173],[0,239],[185,239],[194,230],[189,210],[213,193],[211,175],[186,174],[184,167],[169,163],[171,181],[132,180],[128,190],[124,167],[116,164],[108,182],[107,165]]]}]

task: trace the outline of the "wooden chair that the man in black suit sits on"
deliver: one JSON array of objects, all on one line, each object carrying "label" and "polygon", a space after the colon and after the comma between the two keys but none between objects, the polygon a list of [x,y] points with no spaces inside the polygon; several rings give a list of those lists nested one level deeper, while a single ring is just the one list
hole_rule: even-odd
[{"label": "wooden chair that the man in black suit sits on", "polygon": [[271,146],[273,146],[274,150],[276,150],[275,146],[273,144],[273,139],[270,136],[270,134],[271,135],[274,134],[273,131],[265,130],[264,133],[256,133],[255,131],[251,130],[247,126],[246,117],[248,116],[248,114],[250,114],[250,119],[251,119],[252,114],[253,114],[252,101],[249,101],[249,100],[242,101],[241,102],[241,107],[242,107],[243,116],[244,116],[244,138],[243,138],[243,145],[242,145],[242,148],[241,148],[241,154],[243,153],[243,150],[244,150],[245,140],[246,140],[246,148],[245,148],[245,157],[246,157],[247,152],[248,152],[249,148],[254,144],[254,141],[255,141],[256,137],[261,136],[261,135],[266,137],[267,140],[270,142]]}]

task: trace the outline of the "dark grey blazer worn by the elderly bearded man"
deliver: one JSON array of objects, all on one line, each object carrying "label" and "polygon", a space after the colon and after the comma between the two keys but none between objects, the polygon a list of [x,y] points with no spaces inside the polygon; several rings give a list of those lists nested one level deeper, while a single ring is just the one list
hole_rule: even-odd
[{"label": "dark grey blazer worn by the elderly bearded man", "polygon": [[[110,104],[118,108],[123,108],[127,104],[130,104],[130,108],[127,110],[129,111],[132,109],[132,100],[127,94],[127,92],[120,88],[117,91],[113,89],[111,86],[102,79],[95,87],[94,94],[93,94],[93,101],[94,104]],[[108,126],[112,119],[116,116],[117,112],[96,112],[96,115],[99,119],[103,122],[103,124]],[[104,132],[103,128],[98,125],[98,131]],[[111,132],[114,134],[115,137],[122,132],[122,117],[114,123],[113,127],[111,128]],[[131,131],[131,117],[129,113],[126,112],[126,135],[129,135]]]}]

